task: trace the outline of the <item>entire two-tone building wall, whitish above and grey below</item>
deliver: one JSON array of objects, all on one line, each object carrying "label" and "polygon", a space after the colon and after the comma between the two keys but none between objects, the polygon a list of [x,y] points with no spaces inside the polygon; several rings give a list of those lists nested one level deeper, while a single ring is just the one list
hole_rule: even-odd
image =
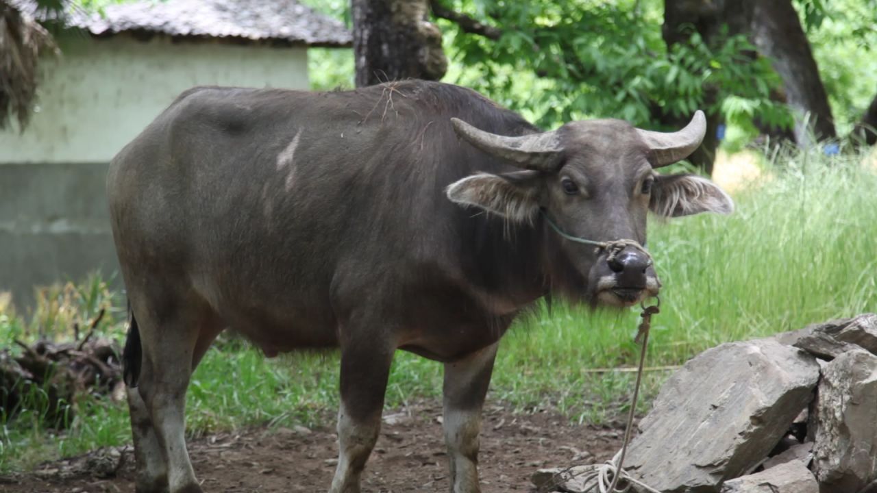
[{"label": "entire two-tone building wall, whitish above and grey below", "polygon": [[308,87],[305,48],[65,35],[25,132],[0,132],[0,291],[19,306],[36,285],[118,268],[107,164],[192,86]]}]

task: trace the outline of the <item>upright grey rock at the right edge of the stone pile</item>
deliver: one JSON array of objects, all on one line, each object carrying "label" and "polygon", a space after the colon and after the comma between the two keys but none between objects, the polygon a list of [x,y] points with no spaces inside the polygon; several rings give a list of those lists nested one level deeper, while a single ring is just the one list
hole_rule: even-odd
[{"label": "upright grey rock at the right edge of the stone pile", "polygon": [[877,479],[877,356],[857,349],[826,365],[814,407],[813,470],[823,491],[859,491]]}]

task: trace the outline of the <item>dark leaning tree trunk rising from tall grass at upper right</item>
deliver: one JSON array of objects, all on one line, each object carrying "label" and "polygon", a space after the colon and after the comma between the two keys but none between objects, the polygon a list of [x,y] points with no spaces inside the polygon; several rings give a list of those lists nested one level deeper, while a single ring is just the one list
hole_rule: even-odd
[{"label": "dark leaning tree trunk rising from tall grass at upper right", "polygon": [[811,146],[811,137],[816,141],[836,138],[828,95],[791,0],[746,2],[755,4],[752,44],[773,59],[774,70],[786,89],[786,103],[795,113],[795,142]]}]

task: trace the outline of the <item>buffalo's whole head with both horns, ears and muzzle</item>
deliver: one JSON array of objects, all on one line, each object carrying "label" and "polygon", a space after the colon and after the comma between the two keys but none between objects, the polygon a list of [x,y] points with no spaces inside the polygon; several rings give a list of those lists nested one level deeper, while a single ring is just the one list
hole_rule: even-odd
[{"label": "buffalo's whole head with both horns, ears and muzzle", "polygon": [[[731,197],[698,175],[660,175],[656,168],[688,157],[700,146],[706,119],[695,113],[679,132],[641,130],[615,119],[577,121],[553,132],[510,137],[484,132],[453,118],[454,130],[481,151],[523,168],[467,176],[447,188],[455,203],[496,213],[511,223],[543,225],[597,241],[633,239],[645,246],[648,211],[688,216],[728,214]],[[539,216],[545,218],[539,219]],[[616,254],[556,236],[561,254],[577,271],[576,284],[591,303],[636,304],[658,294],[660,282],[645,250]]]}]

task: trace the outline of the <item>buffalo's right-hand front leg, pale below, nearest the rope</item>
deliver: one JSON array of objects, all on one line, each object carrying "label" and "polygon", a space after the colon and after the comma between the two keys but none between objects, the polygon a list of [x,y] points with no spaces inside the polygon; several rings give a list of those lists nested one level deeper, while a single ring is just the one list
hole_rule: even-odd
[{"label": "buffalo's right-hand front leg, pale below, nearest the rope", "polygon": [[478,493],[478,433],[481,406],[496,358],[496,344],[445,364],[445,443],[451,465],[451,491]]}]

